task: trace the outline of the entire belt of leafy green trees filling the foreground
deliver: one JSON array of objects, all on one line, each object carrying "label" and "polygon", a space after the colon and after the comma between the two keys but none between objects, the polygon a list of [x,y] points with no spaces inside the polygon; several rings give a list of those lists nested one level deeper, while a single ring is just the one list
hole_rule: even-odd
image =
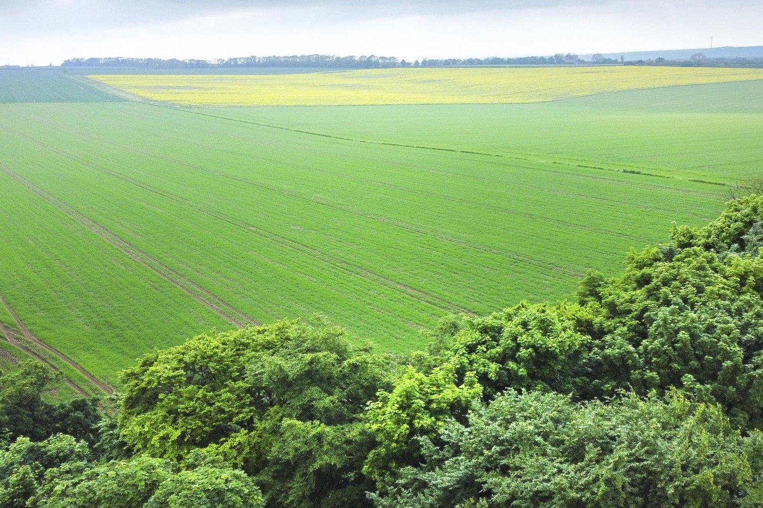
[{"label": "entire belt of leafy green trees filling the foreground", "polygon": [[25,362],[0,376],[0,506],[761,506],[761,249],[752,195],[423,351],[282,320],[56,405]]}]

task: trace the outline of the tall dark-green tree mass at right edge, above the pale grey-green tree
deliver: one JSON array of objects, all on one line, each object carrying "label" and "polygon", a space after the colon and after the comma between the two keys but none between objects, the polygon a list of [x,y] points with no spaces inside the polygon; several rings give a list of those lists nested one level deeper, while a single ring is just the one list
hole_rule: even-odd
[{"label": "tall dark-green tree mass at right edge, above the pale grey-green tree", "polygon": [[763,428],[763,259],[745,252],[761,220],[763,199],[730,201],[706,227],[631,252],[620,277],[584,282],[581,302],[600,306],[594,391],[674,386]]}]

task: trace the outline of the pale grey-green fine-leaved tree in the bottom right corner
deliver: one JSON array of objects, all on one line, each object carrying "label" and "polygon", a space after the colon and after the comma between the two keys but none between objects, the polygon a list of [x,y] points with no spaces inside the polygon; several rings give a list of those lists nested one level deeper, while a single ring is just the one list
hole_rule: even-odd
[{"label": "pale grey-green fine-leaved tree in the bottom right corner", "polygon": [[[377,506],[745,506],[760,497],[761,435],[680,394],[574,404],[509,391],[419,438]],[[755,471],[755,473],[753,473]],[[753,506],[747,504],[746,506]]]}]

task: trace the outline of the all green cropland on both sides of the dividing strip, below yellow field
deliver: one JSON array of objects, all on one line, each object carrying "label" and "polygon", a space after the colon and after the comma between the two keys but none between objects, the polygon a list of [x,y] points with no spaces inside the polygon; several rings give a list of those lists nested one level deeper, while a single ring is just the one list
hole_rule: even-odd
[{"label": "all green cropland on both sides of the dividing strip, below yellow field", "polygon": [[0,104],[0,297],[112,385],[153,348],[282,317],[407,351],[446,313],[567,297],[588,269],[715,217],[726,189],[694,180],[760,168],[761,91]]}]

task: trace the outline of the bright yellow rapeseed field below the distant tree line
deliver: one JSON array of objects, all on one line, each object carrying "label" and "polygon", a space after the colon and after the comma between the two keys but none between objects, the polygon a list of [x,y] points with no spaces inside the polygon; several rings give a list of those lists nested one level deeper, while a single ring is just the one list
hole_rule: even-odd
[{"label": "bright yellow rapeseed field below the distant tree line", "polygon": [[637,88],[763,79],[763,69],[499,67],[367,69],[257,76],[89,76],[153,101],[188,105],[479,104],[553,101]]}]

